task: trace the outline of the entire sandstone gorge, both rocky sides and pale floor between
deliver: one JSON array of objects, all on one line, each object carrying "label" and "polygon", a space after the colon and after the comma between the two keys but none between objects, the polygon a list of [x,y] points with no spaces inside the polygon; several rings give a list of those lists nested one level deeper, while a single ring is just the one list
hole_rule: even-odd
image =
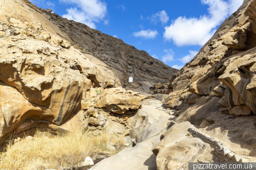
[{"label": "entire sandstone gorge, both rocky sides and pale floor between", "polygon": [[[255,0],[245,0],[174,76],[145,52],[49,9],[0,4],[0,143],[36,128],[109,129],[136,146],[93,170],[256,160]],[[143,93],[142,101],[121,85],[155,95]]]}]

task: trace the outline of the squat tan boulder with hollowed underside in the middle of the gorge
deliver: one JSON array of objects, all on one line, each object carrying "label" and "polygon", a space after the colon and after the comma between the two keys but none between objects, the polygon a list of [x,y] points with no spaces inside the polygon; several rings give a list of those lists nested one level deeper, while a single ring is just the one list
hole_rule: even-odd
[{"label": "squat tan boulder with hollowed underside in the middle of the gorge", "polygon": [[103,90],[97,98],[96,106],[98,108],[106,108],[111,112],[124,114],[127,110],[139,109],[145,96],[118,87]]}]

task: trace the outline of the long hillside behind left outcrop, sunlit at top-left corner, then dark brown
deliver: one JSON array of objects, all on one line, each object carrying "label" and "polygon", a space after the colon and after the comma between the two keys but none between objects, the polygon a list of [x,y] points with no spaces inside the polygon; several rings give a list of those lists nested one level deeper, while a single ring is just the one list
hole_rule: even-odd
[{"label": "long hillside behind left outcrop, sunlit at top-left corner, then dark brown", "polygon": [[[115,72],[123,87],[127,85],[129,77],[133,77],[135,82],[166,82],[178,71],[121,39],[91,29],[83,23],[62,18],[51,13],[49,9],[36,7],[29,1],[13,0],[8,3],[8,6],[1,7],[2,21],[10,22],[9,19],[15,16],[23,21],[40,22],[49,32],[71,42],[81,53],[93,55],[103,61]],[[24,6],[27,14],[22,15],[24,11],[20,11],[20,7],[10,8],[18,4]],[[29,16],[31,14],[33,17]]]}]

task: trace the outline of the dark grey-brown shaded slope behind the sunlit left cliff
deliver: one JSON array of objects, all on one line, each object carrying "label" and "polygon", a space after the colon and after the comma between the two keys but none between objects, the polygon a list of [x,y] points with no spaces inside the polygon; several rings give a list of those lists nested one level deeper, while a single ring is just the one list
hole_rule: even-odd
[{"label": "dark grey-brown shaded slope behind the sunlit left cliff", "polygon": [[121,39],[57,14],[48,13],[46,10],[40,10],[49,15],[50,20],[62,33],[67,34],[83,53],[93,54],[113,68],[123,85],[126,85],[129,77],[133,77],[136,82],[164,82],[178,71],[151,57],[145,51],[139,51],[134,46],[124,43]]}]

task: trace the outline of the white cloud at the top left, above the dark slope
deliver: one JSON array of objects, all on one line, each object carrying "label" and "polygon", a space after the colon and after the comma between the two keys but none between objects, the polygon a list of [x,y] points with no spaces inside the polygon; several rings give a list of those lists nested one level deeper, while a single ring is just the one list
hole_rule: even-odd
[{"label": "white cloud at the top left, above the dark slope", "polygon": [[[82,22],[91,28],[96,29],[95,22],[102,20],[106,13],[106,3],[100,0],[60,0],[68,4],[74,4],[78,8],[67,9],[67,14],[62,17]],[[104,23],[107,24],[106,20]]]}]

